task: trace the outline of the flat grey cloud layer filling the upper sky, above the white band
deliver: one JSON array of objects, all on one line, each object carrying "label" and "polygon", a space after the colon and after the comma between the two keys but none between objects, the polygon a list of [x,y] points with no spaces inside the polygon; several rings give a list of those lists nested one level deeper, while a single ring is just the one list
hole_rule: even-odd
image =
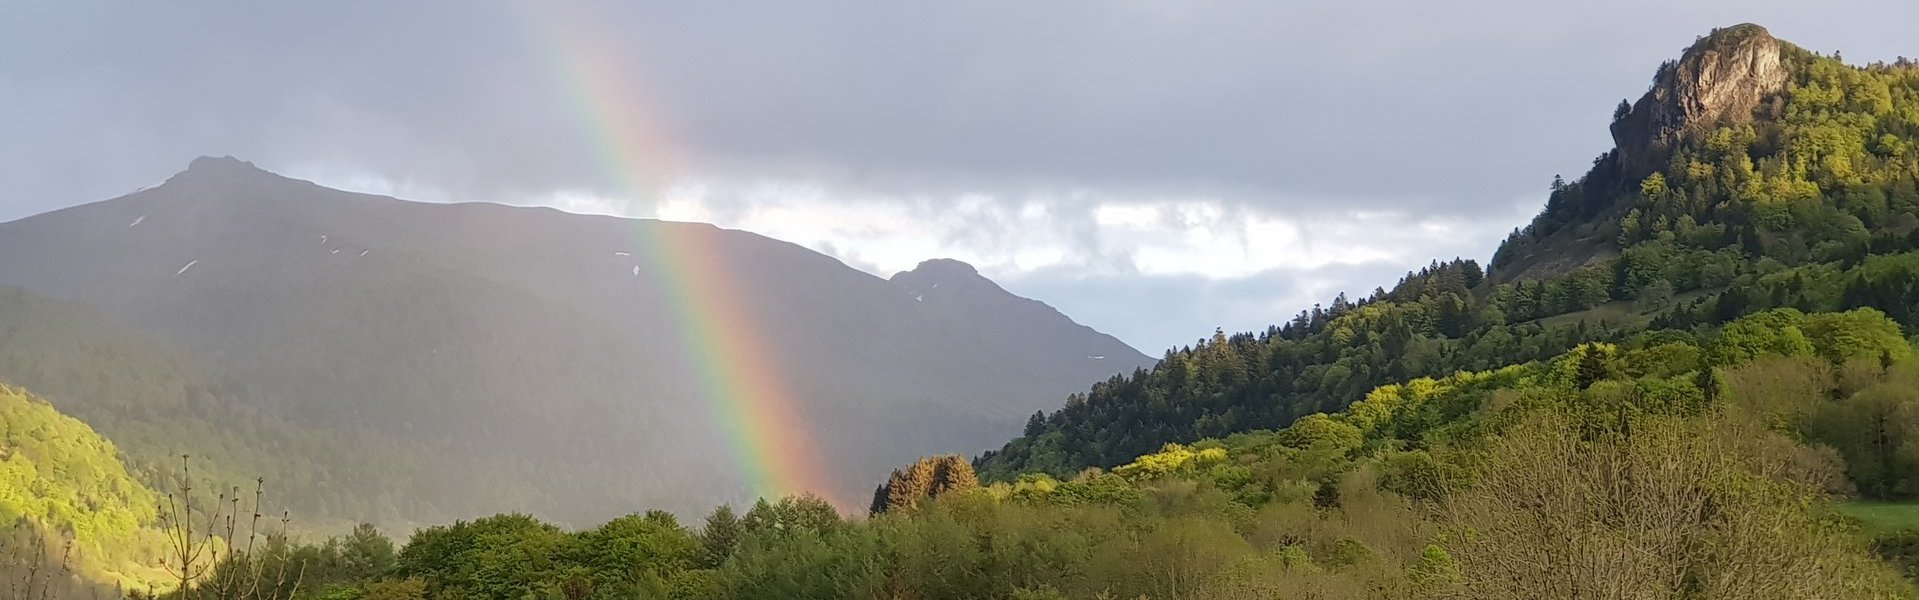
[{"label": "flat grey cloud layer filling the upper sky, above the white band", "polygon": [[[1048,201],[1504,219],[1610,146],[1612,105],[1654,65],[1739,21],[1856,61],[1919,50],[1900,46],[1919,4],[1892,0],[17,2],[0,19],[0,220],[201,153],[424,199],[583,190],[649,213],[564,69],[581,56],[637,90],[616,107],[697,178],[810,180],[929,213],[1086,188]],[[1171,303],[1153,293],[1186,284],[1142,295]]]}]

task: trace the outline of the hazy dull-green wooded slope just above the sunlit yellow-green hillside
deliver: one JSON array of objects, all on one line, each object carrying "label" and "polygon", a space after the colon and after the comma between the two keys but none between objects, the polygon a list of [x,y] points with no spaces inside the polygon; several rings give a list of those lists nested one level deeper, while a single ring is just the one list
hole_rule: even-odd
[{"label": "hazy dull-green wooded slope just above the sunlit yellow-green hillside", "polygon": [[399,523],[430,514],[430,500],[418,496],[428,491],[405,485],[428,449],[296,426],[259,410],[242,385],[205,374],[186,353],[71,301],[0,286],[0,381],[33,389],[113,439],[129,472],[154,489],[171,489],[178,456],[192,454],[201,489],[251,487],[265,477],[303,527],[351,525],[342,516]]}]

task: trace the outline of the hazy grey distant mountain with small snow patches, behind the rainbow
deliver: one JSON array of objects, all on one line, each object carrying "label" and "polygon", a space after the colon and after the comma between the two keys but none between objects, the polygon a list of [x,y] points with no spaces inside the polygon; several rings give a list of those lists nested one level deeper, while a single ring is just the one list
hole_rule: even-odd
[{"label": "hazy grey distant mountain with small snow patches, behind the rainbow", "polygon": [[[217,381],[209,414],[416,452],[401,466],[353,449],[280,458],[305,445],[263,427],[263,460],[359,464],[384,475],[342,473],[353,493],[409,496],[317,508],[338,518],[597,519],[746,500],[741,456],[794,460],[727,443],[768,393],[794,406],[777,426],[831,466],[821,493],[864,504],[892,464],[983,449],[1065,393],[1151,364],[956,261],[888,282],[708,224],[415,203],[232,157],[0,224],[0,286],[178,349],[175,362]],[[743,381],[760,387],[714,395]],[[65,404],[113,403],[40,389],[83,416]]]}]

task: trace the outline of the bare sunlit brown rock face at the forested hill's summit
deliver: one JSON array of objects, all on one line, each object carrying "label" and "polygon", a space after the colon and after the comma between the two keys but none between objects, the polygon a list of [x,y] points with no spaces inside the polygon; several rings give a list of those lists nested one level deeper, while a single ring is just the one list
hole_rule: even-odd
[{"label": "bare sunlit brown rock face at the forested hill's summit", "polygon": [[1689,132],[1752,119],[1760,102],[1787,86],[1783,46],[1765,27],[1746,23],[1718,29],[1660,65],[1652,90],[1612,123],[1627,174],[1650,174]]}]

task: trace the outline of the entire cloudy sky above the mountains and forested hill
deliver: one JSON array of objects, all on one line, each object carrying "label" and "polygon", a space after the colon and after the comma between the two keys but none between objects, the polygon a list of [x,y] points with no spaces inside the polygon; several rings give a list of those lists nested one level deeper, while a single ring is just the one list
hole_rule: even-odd
[{"label": "entire cloudy sky above the mountains and forested hill", "polygon": [[0,220],[234,155],[424,201],[973,263],[1148,355],[1485,261],[1654,67],[1919,2],[0,0]]}]

